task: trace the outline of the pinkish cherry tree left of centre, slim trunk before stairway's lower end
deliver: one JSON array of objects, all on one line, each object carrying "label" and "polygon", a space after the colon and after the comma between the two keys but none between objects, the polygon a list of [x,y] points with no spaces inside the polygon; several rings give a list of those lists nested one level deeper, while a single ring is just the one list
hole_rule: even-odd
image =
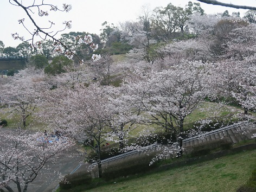
[{"label": "pinkish cherry tree left of centre, slim trunk before stairway's lower end", "polygon": [[45,93],[47,103],[41,112],[50,127],[75,140],[83,138],[86,141],[86,145],[96,153],[93,160],[98,163],[99,177],[102,175],[101,145],[106,143],[111,132],[112,110],[107,105],[106,89],[99,84],[53,89]]}]

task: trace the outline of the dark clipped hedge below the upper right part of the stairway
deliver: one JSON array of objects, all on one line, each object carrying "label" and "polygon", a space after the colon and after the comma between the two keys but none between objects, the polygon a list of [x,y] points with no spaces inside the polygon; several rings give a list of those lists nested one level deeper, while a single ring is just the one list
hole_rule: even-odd
[{"label": "dark clipped hedge below the upper right part of the stairway", "polygon": [[212,142],[200,143],[191,149],[191,157],[207,155],[216,150],[231,149],[232,142],[227,139],[214,140]]}]

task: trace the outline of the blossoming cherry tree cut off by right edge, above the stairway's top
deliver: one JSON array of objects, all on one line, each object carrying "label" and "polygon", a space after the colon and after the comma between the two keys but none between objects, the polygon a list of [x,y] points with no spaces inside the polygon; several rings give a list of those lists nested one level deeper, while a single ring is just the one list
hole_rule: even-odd
[{"label": "blossoming cherry tree cut off by right edge, above the stairway's top", "polygon": [[[255,56],[246,60],[223,60],[212,65],[209,79],[215,93],[244,109],[244,114],[256,108]],[[214,93],[214,91],[213,91]],[[230,100],[228,100],[230,99]]]}]

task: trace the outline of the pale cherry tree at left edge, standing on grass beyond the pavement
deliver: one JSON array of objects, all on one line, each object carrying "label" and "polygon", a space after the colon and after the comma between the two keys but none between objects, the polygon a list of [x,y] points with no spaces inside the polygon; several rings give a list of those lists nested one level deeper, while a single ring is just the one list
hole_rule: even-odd
[{"label": "pale cherry tree at left edge, standing on grass beyond the pavement", "polygon": [[[25,69],[8,79],[1,87],[1,101],[9,106],[5,108],[13,117],[21,119],[18,126],[27,126],[27,118],[41,102],[39,92],[43,87],[44,74],[41,70]],[[41,89],[42,88],[42,89]],[[5,111],[5,112],[7,112]]]}]

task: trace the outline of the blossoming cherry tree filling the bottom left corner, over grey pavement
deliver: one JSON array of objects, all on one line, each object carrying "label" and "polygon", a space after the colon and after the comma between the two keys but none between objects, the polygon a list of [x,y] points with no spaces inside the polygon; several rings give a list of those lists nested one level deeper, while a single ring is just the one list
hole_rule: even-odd
[{"label": "blossoming cherry tree filling the bottom left corner, over grey pavement", "polygon": [[29,183],[35,180],[42,169],[47,169],[47,163],[54,162],[73,145],[63,138],[48,143],[42,132],[1,130],[0,136],[0,189],[5,188],[10,192],[28,191]]}]

